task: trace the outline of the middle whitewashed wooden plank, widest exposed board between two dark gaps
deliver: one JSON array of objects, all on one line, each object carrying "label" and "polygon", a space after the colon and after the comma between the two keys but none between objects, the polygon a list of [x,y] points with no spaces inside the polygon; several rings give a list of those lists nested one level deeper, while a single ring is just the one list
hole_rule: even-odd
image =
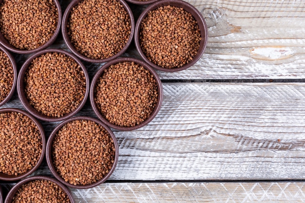
[{"label": "middle whitewashed wooden plank, widest exposed board between two dark gaps", "polygon": [[[114,132],[119,161],[110,180],[305,179],[305,83],[163,89],[149,125]],[[8,106],[21,107],[16,96]],[[89,102],[78,115],[95,117]],[[43,122],[47,135],[56,125]],[[36,174],[50,174],[45,163]]]}]

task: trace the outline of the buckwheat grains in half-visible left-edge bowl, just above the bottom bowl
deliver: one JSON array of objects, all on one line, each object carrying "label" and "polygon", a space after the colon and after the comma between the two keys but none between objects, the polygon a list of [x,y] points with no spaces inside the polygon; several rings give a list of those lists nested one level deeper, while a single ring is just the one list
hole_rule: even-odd
[{"label": "buckwheat grains in half-visible left-edge bowl, just above the bottom bowl", "polygon": [[33,168],[42,153],[37,125],[17,112],[0,114],[0,172],[18,175]]}]

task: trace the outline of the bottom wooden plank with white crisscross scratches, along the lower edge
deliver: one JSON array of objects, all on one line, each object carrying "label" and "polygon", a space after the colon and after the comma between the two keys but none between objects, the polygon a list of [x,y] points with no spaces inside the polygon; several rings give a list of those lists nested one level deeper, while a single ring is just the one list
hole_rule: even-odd
[{"label": "bottom wooden plank with white crisscross scratches, along the lower edge", "polygon": [[105,183],[72,192],[76,203],[305,202],[304,182]]}]

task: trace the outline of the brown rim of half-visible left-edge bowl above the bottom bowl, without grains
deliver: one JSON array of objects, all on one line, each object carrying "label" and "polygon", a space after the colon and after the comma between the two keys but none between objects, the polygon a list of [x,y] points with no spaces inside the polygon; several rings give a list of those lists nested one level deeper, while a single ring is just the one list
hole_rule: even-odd
[{"label": "brown rim of half-visible left-edge bowl above the bottom bowl, without grains", "polygon": [[38,169],[38,167],[40,166],[43,158],[44,158],[44,153],[45,153],[45,148],[46,148],[46,139],[45,139],[45,134],[44,134],[44,129],[43,127],[41,126],[41,124],[38,122],[38,120],[36,120],[31,114],[29,114],[28,112],[26,111],[22,111],[22,110],[19,110],[19,109],[12,109],[12,108],[7,108],[7,109],[1,109],[0,110],[0,113],[5,113],[5,112],[18,112],[18,113],[21,113],[27,117],[29,117],[32,121],[34,121],[34,123],[37,125],[38,129],[39,129],[39,132],[40,132],[40,135],[41,135],[41,141],[42,141],[42,152],[41,152],[41,155],[40,155],[40,158],[37,162],[37,164],[31,168],[30,170],[28,170],[27,172],[24,172],[24,173],[20,173],[18,175],[8,175],[8,174],[5,174],[5,173],[2,173],[0,172],[0,180],[2,181],[17,181],[17,180],[20,180],[22,178],[25,178],[26,176],[32,174],[34,171],[36,171]]}]

